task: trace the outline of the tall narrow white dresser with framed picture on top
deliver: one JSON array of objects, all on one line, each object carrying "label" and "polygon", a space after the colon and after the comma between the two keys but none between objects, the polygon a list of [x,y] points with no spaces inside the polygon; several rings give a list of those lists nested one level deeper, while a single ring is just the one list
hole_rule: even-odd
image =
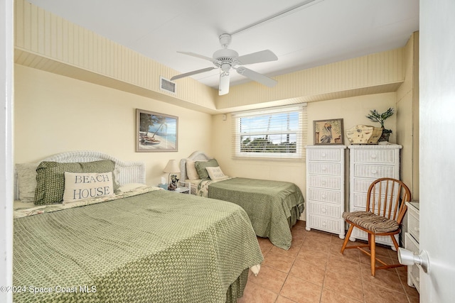
[{"label": "tall narrow white dresser with framed picture on top", "polygon": [[306,145],[306,230],[345,236],[345,145]]}]

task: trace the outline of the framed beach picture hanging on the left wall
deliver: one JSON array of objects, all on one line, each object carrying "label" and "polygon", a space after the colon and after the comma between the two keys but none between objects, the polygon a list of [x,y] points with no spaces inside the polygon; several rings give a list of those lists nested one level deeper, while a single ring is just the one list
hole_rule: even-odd
[{"label": "framed beach picture hanging on the left wall", "polygon": [[136,151],[178,151],[178,117],[136,109]]}]

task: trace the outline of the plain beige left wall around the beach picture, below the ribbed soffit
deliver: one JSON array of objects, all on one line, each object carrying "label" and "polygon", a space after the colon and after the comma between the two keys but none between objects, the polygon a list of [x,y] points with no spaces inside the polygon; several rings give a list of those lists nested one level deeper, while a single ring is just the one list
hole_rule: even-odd
[{"label": "plain beige left wall around the beach picture, below the ribbed soffit", "polygon": [[[70,150],[97,150],[146,163],[158,184],[170,159],[212,153],[211,116],[97,84],[15,65],[14,157],[35,162]],[[135,153],[136,109],[178,116],[178,152]],[[204,136],[198,135],[203,130]]]}]

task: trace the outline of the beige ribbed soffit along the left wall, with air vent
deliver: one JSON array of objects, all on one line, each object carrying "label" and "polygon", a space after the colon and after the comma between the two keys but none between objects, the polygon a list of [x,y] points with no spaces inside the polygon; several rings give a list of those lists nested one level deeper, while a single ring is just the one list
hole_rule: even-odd
[{"label": "beige ribbed soffit along the left wall, with air vent", "polygon": [[[217,91],[191,77],[178,81],[176,94],[159,89],[160,77],[176,70],[77,26],[28,1],[14,1],[16,63],[87,82],[161,99],[189,109],[216,112]],[[159,96],[159,97],[156,97]]]}]

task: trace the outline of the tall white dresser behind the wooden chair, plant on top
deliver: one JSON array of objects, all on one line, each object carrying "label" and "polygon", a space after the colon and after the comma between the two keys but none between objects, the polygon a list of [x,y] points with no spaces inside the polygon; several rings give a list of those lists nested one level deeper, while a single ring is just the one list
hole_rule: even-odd
[{"label": "tall white dresser behind the wooden chair, plant on top", "polygon": [[[402,145],[349,145],[349,211],[365,211],[367,192],[370,184],[382,177],[400,180],[400,148]],[[367,240],[367,233],[354,228],[349,240]],[[399,238],[398,235],[395,238]],[[376,243],[382,243],[395,250],[388,236],[376,237]]]}]

